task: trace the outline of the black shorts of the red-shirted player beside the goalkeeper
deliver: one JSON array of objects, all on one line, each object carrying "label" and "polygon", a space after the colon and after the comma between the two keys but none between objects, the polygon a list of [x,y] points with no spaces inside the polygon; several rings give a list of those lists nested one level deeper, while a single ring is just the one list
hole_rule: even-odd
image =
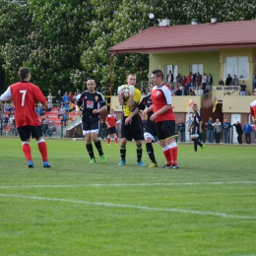
[{"label": "black shorts of the red-shirted player beside the goalkeeper", "polygon": [[158,122],[157,133],[160,141],[163,141],[172,137],[176,137],[177,134],[175,132],[175,121],[166,120],[166,121]]}]

